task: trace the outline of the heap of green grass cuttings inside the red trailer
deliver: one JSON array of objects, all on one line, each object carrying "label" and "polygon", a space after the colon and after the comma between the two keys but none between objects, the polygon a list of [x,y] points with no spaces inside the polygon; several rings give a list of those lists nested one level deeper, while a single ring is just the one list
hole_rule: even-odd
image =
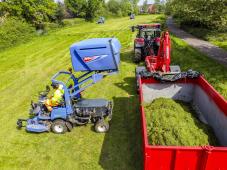
[{"label": "heap of green grass cuttings inside the red trailer", "polygon": [[158,98],[144,108],[151,145],[218,145],[213,130],[197,118],[190,103]]}]

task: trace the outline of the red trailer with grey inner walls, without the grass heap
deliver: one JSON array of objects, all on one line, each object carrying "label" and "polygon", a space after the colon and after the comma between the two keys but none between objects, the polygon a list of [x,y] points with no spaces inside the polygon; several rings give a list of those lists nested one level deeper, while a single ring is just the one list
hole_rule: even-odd
[{"label": "red trailer with grey inner walls, without the grass heap", "polygon": [[[140,112],[145,170],[227,170],[227,101],[205,80],[183,78],[160,83],[139,77]],[[142,103],[159,97],[192,102],[212,127],[222,147],[152,146],[148,143]]]}]

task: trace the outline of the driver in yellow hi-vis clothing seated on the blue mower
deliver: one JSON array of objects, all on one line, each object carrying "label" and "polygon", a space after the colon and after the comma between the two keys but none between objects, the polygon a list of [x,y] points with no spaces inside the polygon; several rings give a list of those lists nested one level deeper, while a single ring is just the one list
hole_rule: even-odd
[{"label": "driver in yellow hi-vis clothing seated on the blue mower", "polygon": [[51,86],[54,89],[53,95],[45,101],[45,106],[49,112],[53,110],[53,107],[59,106],[63,101],[64,89],[63,85],[58,83],[52,83]]}]

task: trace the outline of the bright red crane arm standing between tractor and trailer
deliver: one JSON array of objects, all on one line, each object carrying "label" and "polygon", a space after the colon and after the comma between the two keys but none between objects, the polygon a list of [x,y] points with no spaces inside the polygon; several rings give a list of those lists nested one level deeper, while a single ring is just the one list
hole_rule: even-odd
[{"label": "bright red crane arm standing between tractor and trailer", "polygon": [[160,39],[160,47],[158,50],[158,55],[155,56],[154,53],[150,53],[150,56],[145,58],[146,68],[150,72],[170,72],[170,36],[168,32],[163,32]]}]

